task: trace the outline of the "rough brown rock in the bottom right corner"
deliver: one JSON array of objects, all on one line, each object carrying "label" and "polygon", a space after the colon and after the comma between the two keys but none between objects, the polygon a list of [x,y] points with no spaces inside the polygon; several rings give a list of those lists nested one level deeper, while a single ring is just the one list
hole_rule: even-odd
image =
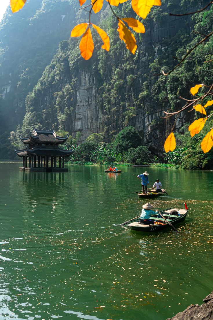
[{"label": "rough brown rock in the bottom right corner", "polygon": [[166,320],[213,320],[213,291],[203,299],[203,304],[191,304],[183,312]]}]

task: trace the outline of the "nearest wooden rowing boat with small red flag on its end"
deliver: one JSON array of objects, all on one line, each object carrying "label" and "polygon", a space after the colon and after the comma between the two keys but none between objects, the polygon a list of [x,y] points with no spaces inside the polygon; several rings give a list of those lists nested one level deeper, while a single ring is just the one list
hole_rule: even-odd
[{"label": "nearest wooden rowing boat with small red flag on its end", "polygon": [[[171,215],[171,211],[177,211],[179,212],[178,215]],[[179,222],[182,222],[185,220],[187,215],[188,209],[178,209],[178,208],[170,208],[161,211],[162,215],[166,220],[168,220],[172,225],[175,225]],[[161,231],[163,229],[169,228],[169,224],[163,219],[163,218],[157,218],[158,214],[153,215],[148,219],[148,222],[150,224],[143,224],[139,222],[139,218],[133,218],[132,220],[128,221],[128,224],[125,224],[125,227],[130,228],[132,230],[137,231],[145,231],[145,232],[155,232],[155,231]],[[170,227],[171,228],[171,227]]]}]

